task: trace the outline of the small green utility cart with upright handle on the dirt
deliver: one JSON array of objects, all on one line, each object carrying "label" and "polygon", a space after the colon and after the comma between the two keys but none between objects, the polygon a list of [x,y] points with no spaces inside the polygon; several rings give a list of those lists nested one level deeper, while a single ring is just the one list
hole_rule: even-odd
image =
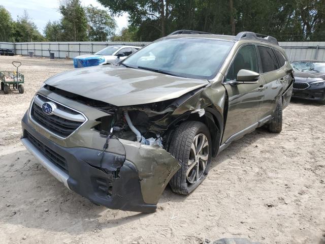
[{"label": "small green utility cart with upright handle on the dirt", "polygon": [[8,94],[10,86],[19,93],[24,93],[24,75],[18,72],[18,67],[21,66],[20,62],[12,62],[12,65],[17,68],[16,71],[0,71],[1,89],[4,94]]}]

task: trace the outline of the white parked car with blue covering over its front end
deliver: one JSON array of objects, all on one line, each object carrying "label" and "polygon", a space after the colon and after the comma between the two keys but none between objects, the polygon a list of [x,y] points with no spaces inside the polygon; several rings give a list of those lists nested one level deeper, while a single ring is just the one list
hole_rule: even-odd
[{"label": "white parked car with blue covering over its front end", "polygon": [[108,46],[95,54],[76,56],[73,59],[75,68],[83,68],[96,65],[111,65],[120,62],[128,55],[136,52],[141,47],[135,46]]}]

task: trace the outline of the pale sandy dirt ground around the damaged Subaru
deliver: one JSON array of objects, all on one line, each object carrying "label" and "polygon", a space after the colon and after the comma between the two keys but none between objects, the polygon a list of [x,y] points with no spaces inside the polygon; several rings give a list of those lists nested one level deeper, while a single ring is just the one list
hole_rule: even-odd
[{"label": "pale sandy dirt ground around the damaged Subaru", "polygon": [[22,62],[25,93],[0,92],[0,243],[325,243],[325,106],[291,101],[283,131],[246,135],[214,158],[189,196],[167,188],[154,214],[111,210],[66,189],[20,142],[20,120],[42,82],[71,60]]}]

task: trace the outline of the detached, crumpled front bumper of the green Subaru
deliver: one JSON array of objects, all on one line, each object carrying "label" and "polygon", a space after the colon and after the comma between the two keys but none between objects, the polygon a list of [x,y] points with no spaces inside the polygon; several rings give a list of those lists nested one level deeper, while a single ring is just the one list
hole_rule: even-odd
[{"label": "detached, crumpled front bumper of the green Subaru", "polygon": [[52,175],[90,201],[112,209],[155,211],[161,193],[180,168],[157,145],[111,139],[111,151],[119,153],[105,151],[101,161],[99,149],[63,147],[45,137],[27,113],[22,129],[22,143]]}]

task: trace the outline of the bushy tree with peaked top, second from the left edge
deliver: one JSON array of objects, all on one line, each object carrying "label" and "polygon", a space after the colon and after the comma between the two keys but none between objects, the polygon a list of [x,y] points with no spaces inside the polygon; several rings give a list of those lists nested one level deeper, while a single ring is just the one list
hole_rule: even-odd
[{"label": "bushy tree with peaked top, second from the left edge", "polygon": [[44,41],[44,37],[38,31],[36,24],[32,22],[26,10],[24,15],[17,16],[17,21],[13,23],[12,38],[15,42]]}]

